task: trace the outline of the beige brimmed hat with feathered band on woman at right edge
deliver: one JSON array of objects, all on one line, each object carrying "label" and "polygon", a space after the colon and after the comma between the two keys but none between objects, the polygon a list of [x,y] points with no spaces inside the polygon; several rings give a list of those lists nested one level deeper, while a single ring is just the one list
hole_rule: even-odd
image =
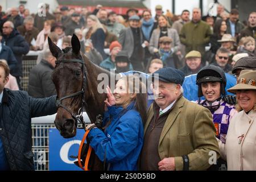
[{"label": "beige brimmed hat with feathered band on woman at right edge", "polygon": [[228,92],[236,93],[237,90],[256,90],[256,71],[244,69],[238,77],[237,85],[228,89]]}]

